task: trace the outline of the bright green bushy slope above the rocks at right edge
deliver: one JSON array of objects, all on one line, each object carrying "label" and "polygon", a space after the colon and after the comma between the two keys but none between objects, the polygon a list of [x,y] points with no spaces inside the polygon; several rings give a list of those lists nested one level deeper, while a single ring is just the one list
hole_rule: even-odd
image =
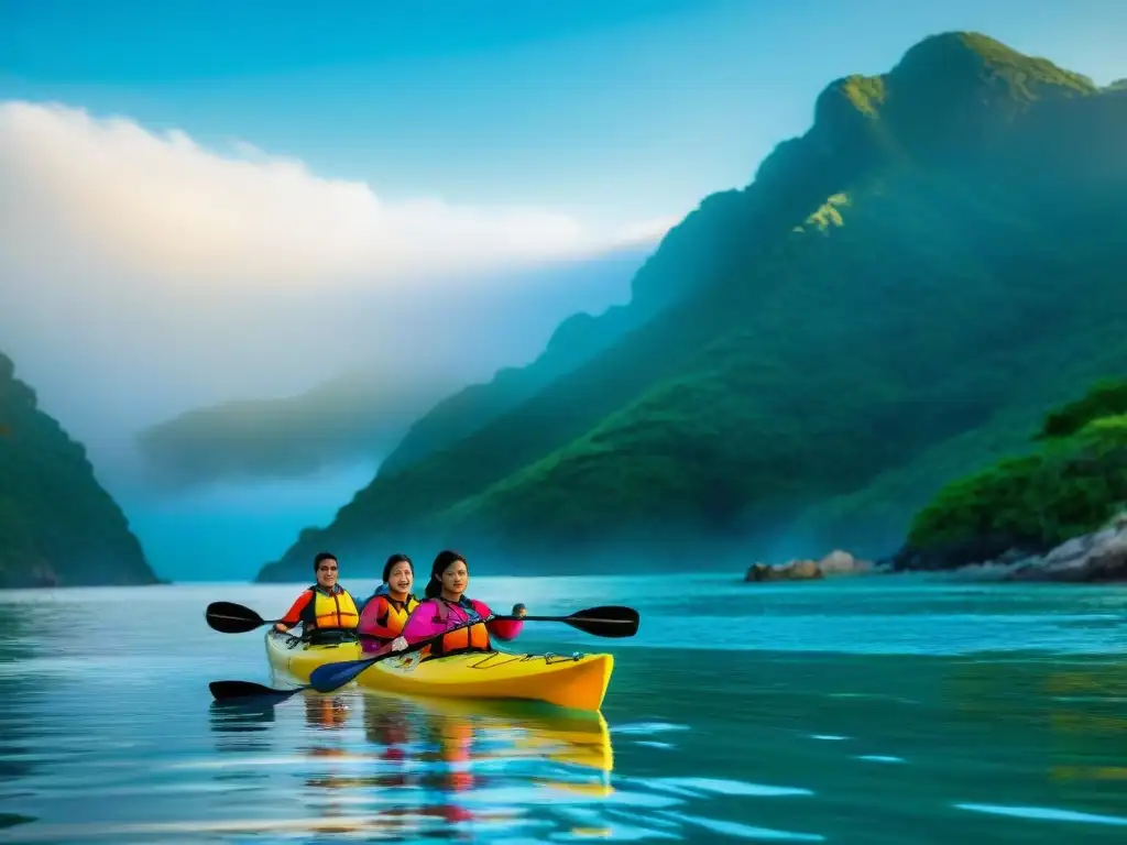
[{"label": "bright green bushy slope above the rocks at right edge", "polygon": [[1042,552],[1127,506],[1127,381],[1050,412],[1036,452],[944,486],[912,523],[905,566],[956,567]]}]

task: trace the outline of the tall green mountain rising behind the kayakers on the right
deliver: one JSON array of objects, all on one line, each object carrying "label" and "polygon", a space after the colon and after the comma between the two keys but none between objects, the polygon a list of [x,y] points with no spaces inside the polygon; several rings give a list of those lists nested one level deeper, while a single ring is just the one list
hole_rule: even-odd
[{"label": "tall green mountain rising behind the kayakers on the right", "polygon": [[702,203],[695,261],[650,258],[692,277],[682,299],[381,472],[260,579],[320,546],[541,571],[891,551],[951,477],[1127,367],[1125,142],[1127,91],[977,34],[833,82],[805,135]]}]

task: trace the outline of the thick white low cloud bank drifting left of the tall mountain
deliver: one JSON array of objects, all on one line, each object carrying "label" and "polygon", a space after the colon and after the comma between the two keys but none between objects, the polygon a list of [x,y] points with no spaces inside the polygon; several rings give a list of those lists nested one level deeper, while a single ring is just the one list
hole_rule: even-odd
[{"label": "thick white low cloud bank drifting left of the tall mountain", "polygon": [[0,103],[0,349],[99,468],[181,411],[365,362],[488,377],[621,301],[674,222],[388,201],[246,143],[24,101]]}]

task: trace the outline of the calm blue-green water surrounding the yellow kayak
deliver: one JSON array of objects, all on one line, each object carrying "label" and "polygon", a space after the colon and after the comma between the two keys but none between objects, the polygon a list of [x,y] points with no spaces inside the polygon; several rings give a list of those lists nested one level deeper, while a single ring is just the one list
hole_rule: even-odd
[{"label": "calm blue-green water surrounding the yellow kayak", "polygon": [[473,586],[639,608],[630,641],[522,638],[610,644],[605,722],[212,704],[211,679],[270,678],[261,633],[211,631],[207,602],[269,617],[298,585],[0,593],[0,842],[1127,842],[1127,590]]}]

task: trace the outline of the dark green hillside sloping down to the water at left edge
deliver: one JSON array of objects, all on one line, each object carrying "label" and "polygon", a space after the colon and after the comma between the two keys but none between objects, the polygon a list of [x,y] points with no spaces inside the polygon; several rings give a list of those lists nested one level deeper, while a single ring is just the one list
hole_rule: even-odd
[{"label": "dark green hillside sloping down to the water at left edge", "polygon": [[156,581],[86,450],[0,354],[0,588]]}]

